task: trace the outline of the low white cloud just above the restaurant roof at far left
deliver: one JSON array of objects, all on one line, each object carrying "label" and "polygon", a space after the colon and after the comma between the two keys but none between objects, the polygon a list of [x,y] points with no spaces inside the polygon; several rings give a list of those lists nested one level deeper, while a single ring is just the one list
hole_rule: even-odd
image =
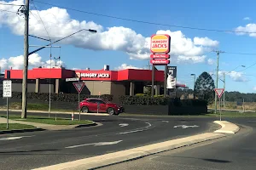
[{"label": "low white cloud just above the restaurant roof at far left", "polygon": [[[14,69],[14,70],[18,70],[18,69],[23,69],[23,63],[24,63],[24,57],[23,55],[19,55],[16,57],[10,57],[9,59],[0,59],[0,66],[2,70],[5,69]],[[46,67],[46,68],[50,68],[50,64],[51,63],[51,67],[55,66],[55,60],[47,60],[47,61],[43,61],[42,57],[39,56],[38,54],[31,54],[29,56],[28,59],[28,65],[32,66],[32,67],[38,67],[38,66],[42,66],[42,67]],[[56,63],[58,66],[62,65],[65,66],[65,64],[63,63],[63,61],[57,61]]]}]

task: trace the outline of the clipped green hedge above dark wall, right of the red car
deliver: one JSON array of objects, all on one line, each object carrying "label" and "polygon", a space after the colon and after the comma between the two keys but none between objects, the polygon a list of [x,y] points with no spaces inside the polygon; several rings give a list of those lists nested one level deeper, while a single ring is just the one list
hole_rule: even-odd
[{"label": "clipped green hedge above dark wall, right of the red car", "polygon": [[120,96],[121,105],[174,105],[174,106],[207,106],[207,101],[202,99],[171,99],[164,97],[149,96]]}]

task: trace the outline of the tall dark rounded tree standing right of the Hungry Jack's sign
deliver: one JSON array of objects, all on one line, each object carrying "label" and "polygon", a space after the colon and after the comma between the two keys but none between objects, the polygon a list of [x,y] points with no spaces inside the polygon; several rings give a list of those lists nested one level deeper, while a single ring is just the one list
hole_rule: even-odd
[{"label": "tall dark rounded tree standing right of the Hungry Jack's sign", "polygon": [[211,75],[207,72],[203,72],[195,81],[195,97],[205,99],[208,104],[212,104],[215,97],[214,88],[215,85]]}]

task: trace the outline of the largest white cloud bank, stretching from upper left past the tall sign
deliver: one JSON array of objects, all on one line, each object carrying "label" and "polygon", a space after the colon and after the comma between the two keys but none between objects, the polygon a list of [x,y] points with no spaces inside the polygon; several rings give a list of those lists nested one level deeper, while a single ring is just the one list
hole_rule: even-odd
[{"label": "largest white cloud bank, stretching from upper left past the tall sign", "polygon": [[[2,2],[4,3],[4,2]],[[23,0],[10,3],[23,4]],[[14,6],[0,6],[0,9],[16,11]],[[44,26],[42,25],[37,11],[32,10],[30,14],[30,34],[48,38]],[[143,37],[136,31],[123,26],[113,26],[103,28],[93,21],[74,20],[64,8],[48,8],[39,11],[44,20],[44,25],[49,31],[52,40],[66,37],[81,29],[95,29],[96,34],[89,31],[81,31],[61,43],[72,44],[79,48],[92,50],[118,50],[129,55],[130,59],[149,59],[150,37]],[[24,31],[23,16],[14,13],[0,13],[0,25],[8,26],[14,34],[22,36]],[[154,33],[154,32],[153,32]],[[203,63],[206,57],[203,55],[218,46],[218,41],[213,41],[208,37],[186,37],[182,31],[157,31],[157,34],[166,33],[171,35],[171,55],[173,61]]]}]

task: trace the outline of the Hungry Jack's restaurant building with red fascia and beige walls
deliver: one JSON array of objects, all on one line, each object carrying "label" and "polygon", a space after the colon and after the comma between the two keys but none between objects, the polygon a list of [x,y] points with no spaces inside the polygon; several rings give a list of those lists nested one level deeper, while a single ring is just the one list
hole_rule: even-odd
[{"label": "Hungry Jack's restaurant building with red fascia and beige walls", "polygon": [[[22,70],[6,70],[4,78],[12,80],[14,92],[22,92]],[[155,94],[163,94],[164,71],[154,73]],[[85,83],[81,94],[99,95],[113,94],[134,95],[143,94],[144,87],[151,84],[151,70],[126,69],[122,71],[109,71],[104,65],[100,71],[67,70],[64,68],[33,68],[28,71],[27,91],[35,93],[77,94],[73,82],[66,82],[67,78],[80,77]],[[183,87],[184,85],[177,85]]]}]

